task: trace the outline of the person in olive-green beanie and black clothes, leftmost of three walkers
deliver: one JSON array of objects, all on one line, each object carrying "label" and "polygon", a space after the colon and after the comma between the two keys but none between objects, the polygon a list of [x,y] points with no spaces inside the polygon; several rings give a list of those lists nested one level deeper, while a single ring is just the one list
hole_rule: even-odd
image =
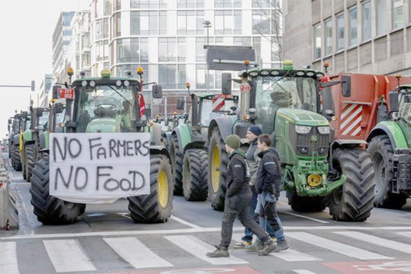
[{"label": "person in olive-green beanie and black clothes, leftmost of three walkers", "polygon": [[232,226],[238,217],[241,224],[249,228],[259,237],[264,248],[259,255],[268,255],[275,248],[270,236],[250,216],[251,190],[249,186],[250,174],[245,163],[245,154],[239,150],[241,140],[238,135],[232,134],[225,139],[225,150],[229,154],[229,163],[226,172],[227,190],[225,194],[224,214],[221,224],[221,242],[216,250],[208,252],[208,257],[228,257],[228,246],[232,237]]}]

